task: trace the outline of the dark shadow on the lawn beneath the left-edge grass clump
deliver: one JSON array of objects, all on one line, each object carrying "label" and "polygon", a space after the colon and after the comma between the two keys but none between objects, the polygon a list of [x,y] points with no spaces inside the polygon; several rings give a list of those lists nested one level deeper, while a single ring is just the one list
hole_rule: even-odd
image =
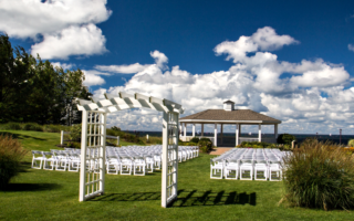
[{"label": "dark shadow on the lawn beneath the left-edge grass clump", "polygon": [[44,191],[61,188],[56,183],[9,183],[4,192]]}]

